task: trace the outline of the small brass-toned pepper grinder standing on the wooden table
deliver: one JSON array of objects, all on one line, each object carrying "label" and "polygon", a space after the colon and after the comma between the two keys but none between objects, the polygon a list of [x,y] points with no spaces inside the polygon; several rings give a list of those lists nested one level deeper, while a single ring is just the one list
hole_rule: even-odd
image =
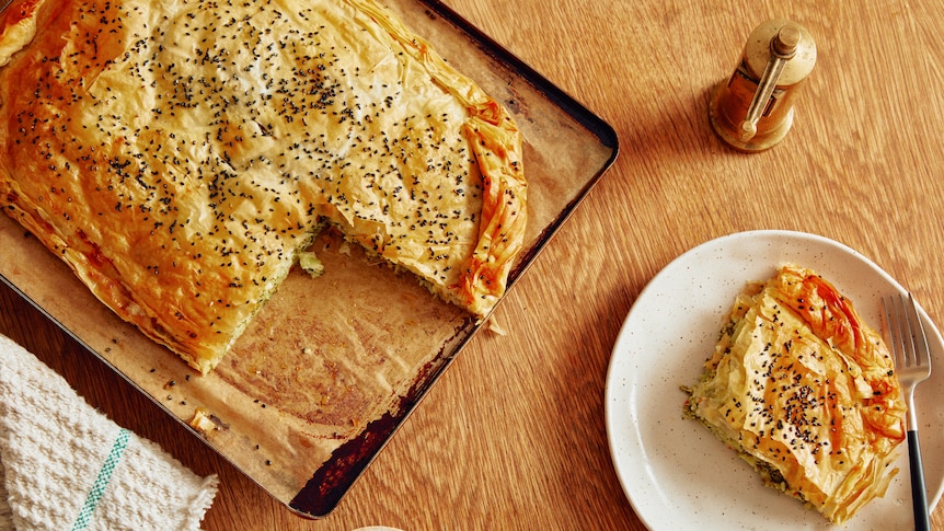
[{"label": "small brass-toned pepper grinder standing on the wooden table", "polygon": [[759,25],[748,37],[740,65],[715,89],[709,119],[728,146],[762,151],[793,125],[793,103],[816,65],[816,43],[803,26],[785,20]]}]

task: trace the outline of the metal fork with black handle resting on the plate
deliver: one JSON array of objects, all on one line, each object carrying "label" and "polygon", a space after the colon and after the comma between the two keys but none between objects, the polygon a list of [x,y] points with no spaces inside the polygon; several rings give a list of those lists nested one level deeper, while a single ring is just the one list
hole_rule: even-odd
[{"label": "metal fork with black handle resting on the plate", "polygon": [[882,299],[888,345],[895,359],[895,371],[905,390],[908,405],[908,464],[911,469],[911,501],[914,510],[914,529],[931,529],[928,515],[928,494],[924,489],[924,467],[918,442],[918,417],[914,414],[914,388],[931,376],[931,350],[924,335],[924,325],[918,313],[918,303],[911,293],[898,293]]}]

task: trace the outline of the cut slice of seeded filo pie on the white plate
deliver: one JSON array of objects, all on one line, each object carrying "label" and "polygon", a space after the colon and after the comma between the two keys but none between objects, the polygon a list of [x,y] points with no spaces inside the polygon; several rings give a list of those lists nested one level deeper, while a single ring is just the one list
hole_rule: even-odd
[{"label": "cut slice of seeded filo pie on the white plate", "polygon": [[809,269],[737,297],[684,411],[763,482],[836,523],[884,496],[906,405],[880,335]]}]

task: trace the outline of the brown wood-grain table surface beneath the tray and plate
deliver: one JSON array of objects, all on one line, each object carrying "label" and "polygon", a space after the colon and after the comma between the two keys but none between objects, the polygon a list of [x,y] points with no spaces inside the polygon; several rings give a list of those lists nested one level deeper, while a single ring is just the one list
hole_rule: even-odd
[{"label": "brown wood-grain table surface beneath the tray and plate", "polygon": [[[507,335],[473,338],[327,518],[290,513],[0,288],[0,333],[118,424],[219,474],[205,529],[644,529],[607,443],[611,350],[653,276],[724,234],[838,240],[944,323],[944,1],[447,3],[610,123],[621,154],[497,310]],[[784,141],[740,154],[713,136],[709,91],[773,18],[808,28],[819,56]],[[944,529],[944,508],[933,522]]]}]

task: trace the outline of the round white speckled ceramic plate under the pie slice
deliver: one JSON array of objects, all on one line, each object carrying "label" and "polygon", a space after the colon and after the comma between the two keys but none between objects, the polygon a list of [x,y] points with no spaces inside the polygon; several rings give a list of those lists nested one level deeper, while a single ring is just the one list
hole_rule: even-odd
[{"label": "round white speckled ceramic plate under the pie slice", "polygon": [[[798,232],[732,234],[684,253],[640,293],[613,348],[606,411],[610,451],[636,515],[653,530],[829,529],[818,512],[763,486],[750,466],[700,423],[682,417],[682,384],[701,374],[721,321],[748,280],[787,262],[809,267],[849,297],[879,327],[880,297],[903,291],[860,253]],[[932,506],[944,490],[944,340],[926,313],[931,380],[916,391],[925,482]],[[884,498],[843,528],[913,529],[908,448]]]}]

